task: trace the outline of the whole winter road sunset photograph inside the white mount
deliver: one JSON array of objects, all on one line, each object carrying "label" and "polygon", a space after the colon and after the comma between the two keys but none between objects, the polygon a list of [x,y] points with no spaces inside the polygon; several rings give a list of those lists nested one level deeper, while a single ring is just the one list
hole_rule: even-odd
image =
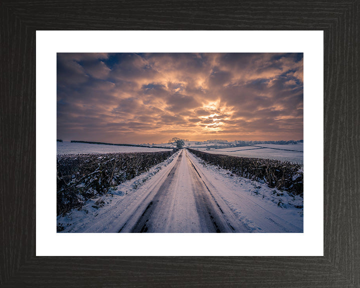
[{"label": "whole winter road sunset photograph inside the white mount", "polygon": [[56,232],[303,233],[303,93],[301,51],[57,52]]}]

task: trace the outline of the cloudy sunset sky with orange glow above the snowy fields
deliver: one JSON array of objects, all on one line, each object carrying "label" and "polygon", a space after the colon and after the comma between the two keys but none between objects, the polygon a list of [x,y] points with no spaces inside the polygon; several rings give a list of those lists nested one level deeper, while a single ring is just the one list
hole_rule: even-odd
[{"label": "cloudy sunset sky with orange glow above the snowy fields", "polygon": [[57,53],[57,138],[303,138],[302,53]]}]

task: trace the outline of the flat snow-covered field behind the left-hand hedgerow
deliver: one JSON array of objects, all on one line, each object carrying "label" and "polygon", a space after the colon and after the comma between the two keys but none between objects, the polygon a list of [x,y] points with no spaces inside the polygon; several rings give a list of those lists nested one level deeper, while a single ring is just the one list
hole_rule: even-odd
[{"label": "flat snow-covered field behind the left-hand hedgerow", "polygon": [[169,151],[165,148],[149,148],[136,146],[116,146],[104,144],[89,144],[76,142],[56,142],[56,154],[84,153],[124,153],[124,152],[157,152]]}]

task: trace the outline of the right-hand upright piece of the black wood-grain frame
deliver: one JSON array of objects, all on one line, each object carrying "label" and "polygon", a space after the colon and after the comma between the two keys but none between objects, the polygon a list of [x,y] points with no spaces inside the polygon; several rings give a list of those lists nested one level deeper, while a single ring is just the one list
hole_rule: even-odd
[{"label": "right-hand upright piece of the black wood-grain frame", "polygon": [[[359,1],[324,42],[324,255],[360,286]],[[326,75],[326,76],[325,76]]]}]

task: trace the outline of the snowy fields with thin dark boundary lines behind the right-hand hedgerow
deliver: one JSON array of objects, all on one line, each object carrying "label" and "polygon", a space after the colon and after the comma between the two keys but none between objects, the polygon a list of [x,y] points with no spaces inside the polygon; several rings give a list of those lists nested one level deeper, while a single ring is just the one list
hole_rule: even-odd
[{"label": "snowy fields with thin dark boundary lines behind the right-hand hedgerow", "polygon": [[[259,148],[255,146],[242,146],[242,147],[232,147],[224,149],[211,149],[206,150],[200,148],[208,153],[213,154],[225,154],[231,156],[240,156],[240,157],[253,157],[253,158],[264,158],[264,159],[276,159],[281,161],[289,161],[296,163],[303,163],[303,144],[292,144],[292,145],[276,145],[276,144],[258,144],[258,146],[268,146],[271,148]],[[196,149],[195,147],[193,147]],[[278,149],[289,149],[289,150],[298,150],[298,151],[288,151],[288,150],[278,150]]]}]

